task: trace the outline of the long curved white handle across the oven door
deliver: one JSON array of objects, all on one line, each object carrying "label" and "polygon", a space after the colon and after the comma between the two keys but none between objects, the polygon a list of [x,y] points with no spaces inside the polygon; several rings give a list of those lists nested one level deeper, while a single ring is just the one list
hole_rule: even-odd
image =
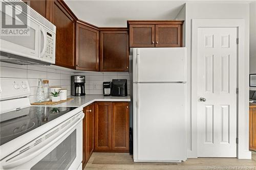
[{"label": "long curved white handle across the oven door", "polygon": [[[70,125],[68,128],[63,128],[55,135],[52,135],[48,139],[44,140],[40,144],[37,144],[36,147],[33,147],[29,149],[28,152],[24,152],[18,155],[13,155],[11,158],[7,158],[6,161],[3,162],[3,168],[4,169],[12,169],[14,167],[20,166],[31,159],[35,158],[40,153],[44,152],[46,149],[48,149],[51,145],[53,145],[55,142],[57,142],[59,139],[61,139],[63,136],[65,136],[67,133],[69,133],[74,127],[76,127],[84,117],[84,114],[81,113],[82,116],[77,117],[74,124]],[[39,149],[38,149],[39,148]],[[27,153],[27,154],[26,154]]]}]

